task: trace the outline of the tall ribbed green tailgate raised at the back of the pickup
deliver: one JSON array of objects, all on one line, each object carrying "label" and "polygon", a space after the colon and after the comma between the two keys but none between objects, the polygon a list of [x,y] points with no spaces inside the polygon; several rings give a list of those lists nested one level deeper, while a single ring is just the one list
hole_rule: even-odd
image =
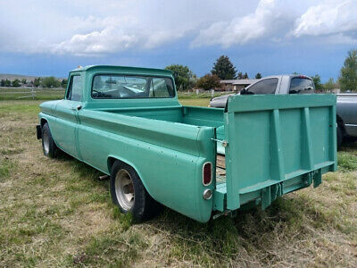
[{"label": "tall ribbed green tailgate raised at the back of the pickup", "polygon": [[336,96],[230,96],[226,109],[226,209],[265,208],[336,171]]}]

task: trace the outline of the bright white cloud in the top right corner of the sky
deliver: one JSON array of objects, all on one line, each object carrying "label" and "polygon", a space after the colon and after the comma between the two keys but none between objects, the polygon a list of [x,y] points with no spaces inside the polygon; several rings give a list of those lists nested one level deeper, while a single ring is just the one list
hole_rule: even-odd
[{"label": "bright white cloud in the top right corner of the sky", "polygon": [[296,38],[341,33],[348,37],[356,30],[357,1],[335,0],[311,6],[295,21],[293,34]]}]

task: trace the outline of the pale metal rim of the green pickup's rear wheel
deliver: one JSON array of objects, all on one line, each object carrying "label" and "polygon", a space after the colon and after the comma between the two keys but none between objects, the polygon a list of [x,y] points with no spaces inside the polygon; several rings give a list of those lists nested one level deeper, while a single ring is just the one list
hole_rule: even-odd
[{"label": "pale metal rim of the green pickup's rear wheel", "polygon": [[115,194],[119,205],[129,211],[134,205],[134,184],[133,180],[124,169],[117,172],[115,176]]}]

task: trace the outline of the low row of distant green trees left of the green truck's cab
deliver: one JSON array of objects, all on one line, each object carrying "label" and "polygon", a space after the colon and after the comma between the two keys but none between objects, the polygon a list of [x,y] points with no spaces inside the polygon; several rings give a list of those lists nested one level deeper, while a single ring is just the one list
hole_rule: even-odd
[{"label": "low row of distant green trees left of the green truck's cab", "polygon": [[0,80],[0,87],[14,87],[19,88],[21,86],[29,86],[29,87],[41,87],[41,88],[66,88],[67,80],[58,80],[54,76],[44,77],[44,78],[36,78],[34,80]]}]

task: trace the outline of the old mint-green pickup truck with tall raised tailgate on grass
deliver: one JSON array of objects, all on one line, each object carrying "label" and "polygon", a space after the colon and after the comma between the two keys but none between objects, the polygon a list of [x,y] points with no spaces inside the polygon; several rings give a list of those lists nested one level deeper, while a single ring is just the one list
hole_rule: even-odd
[{"label": "old mint-green pickup truck with tall raised tailgate on grass", "polygon": [[229,96],[225,110],[179,104],[172,72],[87,66],[40,105],[37,138],[110,175],[137,221],[160,205],[208,222],[321,183],[336,171],[336,96]]}]

